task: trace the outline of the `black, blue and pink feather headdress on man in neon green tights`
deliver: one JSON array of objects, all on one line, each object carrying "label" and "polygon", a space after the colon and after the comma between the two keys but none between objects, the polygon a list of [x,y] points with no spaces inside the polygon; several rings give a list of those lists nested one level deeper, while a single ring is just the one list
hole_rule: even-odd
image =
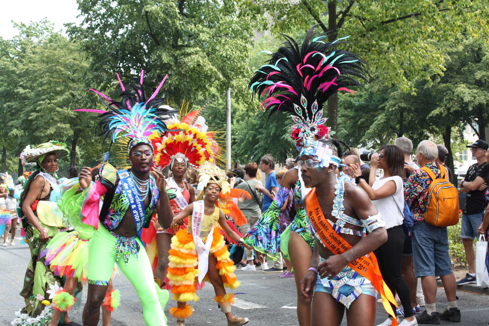
[{"label": "black, blue and pink feather headdress on man in neon green tights", "polygon": [[90,89],[100,96],[102,103],[108,110],[77,109],[75,111],[100,113],[100,122],[98,124],[102,128],[100,135],[104,135],[102,141],[105,141],[109,135],[112,135],[112,143],[116,139],[127,137],[129,138],[129,152],[137,144],[144,143],[152,146],[149,136],[154,131],[158,133],[168,131],[164,120],[172,114],[178,113],[177,110],[161,106],[163,99],[156,97],[168,75],[163,78],[149,98],[142,87],[144,70],[141,70],[139,85],[131,84],[131,90],[126,89],[119,75],[116,75],[122,89],[120,92],[122,100],[120,102],[110,99],[95,89]]}]

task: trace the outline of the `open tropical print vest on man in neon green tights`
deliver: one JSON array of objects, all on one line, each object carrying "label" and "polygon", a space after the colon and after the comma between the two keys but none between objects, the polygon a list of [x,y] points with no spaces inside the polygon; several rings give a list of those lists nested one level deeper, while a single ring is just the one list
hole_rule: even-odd
[{"label": "open tropical print vest on man in neon green tights", "polygon": [[[156,202],[159,199],[159,191],[158,187],[156,187],[155,178],[150,176],[150,192],[151,192],[151,201],[146,208],[146,222],[144,225],[146,226],[148,222],[151,220],[153,212],[155,211]],[[168,194],[170,196],[170,194]],[[175,196],[173,196],[174,198]],[[172,198],[170,196],[170,198]],[[111,202],[111,206],[109,207],[109,211],[107,212],[107,216],[102,221],[102,224],[108,230],[114,230],[119,226],[119,223],[122,221],[122,218],[126,214],[129,209],[129,200],[126,194],[122,191],[121,182],[119,182],[115,188],[115,194]]]}]

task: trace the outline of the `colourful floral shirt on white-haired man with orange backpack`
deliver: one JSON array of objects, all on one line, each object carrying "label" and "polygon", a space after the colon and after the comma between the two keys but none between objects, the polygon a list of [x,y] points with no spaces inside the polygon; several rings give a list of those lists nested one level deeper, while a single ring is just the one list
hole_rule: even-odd
[{"label": "colourful floral shirt on white-haired man with orange backpack", "polygon": [[[440,177],[440,166],[438,163],[430,162],[424,165],[429,168],[437,177]],[[428,204],[428,191],[431,178],[421,169],[414,170],[404,184],[404,198],[411,204],[411,212],[415,222],[424,220],[423,214],[426,212]]]}]

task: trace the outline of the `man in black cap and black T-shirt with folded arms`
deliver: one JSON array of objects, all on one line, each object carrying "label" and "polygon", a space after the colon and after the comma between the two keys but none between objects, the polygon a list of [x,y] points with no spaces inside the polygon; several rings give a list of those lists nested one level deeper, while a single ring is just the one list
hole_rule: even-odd
[{"label": "man in black cap and black T-shirt with folded arms", "polygon": [[489,165],[486,163],[488,143],[479,139],[467,147],[472,152],[472,159],[476,159],[477,163],[468,168],[465,178],[460,181],[459,185],[460,192],[467,193],[462,210],[460,238],[462,238],[467,257],[468,273],[462,280],[457,281],[458,285],[476,283],[474,238],[477,239],[477,228],[482,223],[485,209],[483,204],[484,191],[487,188],[486,181],[489,177]]}]

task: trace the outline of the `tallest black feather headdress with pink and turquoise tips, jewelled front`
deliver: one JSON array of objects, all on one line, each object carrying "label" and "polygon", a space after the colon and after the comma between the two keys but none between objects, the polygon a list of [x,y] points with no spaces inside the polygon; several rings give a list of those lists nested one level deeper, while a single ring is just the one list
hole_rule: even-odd
[{"label": "tallest black feather headdress with pink and turquoise tips, jewelled front", "polygon": [[286,42],[275,53],[261,51],[271,59],[249,82],[253,95],[258,94],[262,101],[261,108],[271,110],[270,116],[274,111],[292,115],[291,137],[299,151],[308,138],[328,138],[322,111],[326,100],[338,91],[353,92],[348,87],[361,85],[358,80],[367,81],[368,76],[365,63],[355,54],[336,49],[348,36],[324,42],[327,35],[316,36],[315,26],[307,32],[301,48],[283,35]]}]

